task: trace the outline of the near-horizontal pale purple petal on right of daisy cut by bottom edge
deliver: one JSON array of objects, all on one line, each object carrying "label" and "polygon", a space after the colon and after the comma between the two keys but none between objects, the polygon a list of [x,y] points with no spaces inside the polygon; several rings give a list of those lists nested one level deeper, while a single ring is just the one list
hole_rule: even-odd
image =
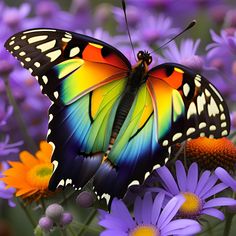
[{"label": "near-horizontal pale purple petal on right of daisy cut by bottom edge", "polygon": [[197,221],[180,219],[171,221],[161,230],[161,235],[193,235],[200,231],[201,226]]}]

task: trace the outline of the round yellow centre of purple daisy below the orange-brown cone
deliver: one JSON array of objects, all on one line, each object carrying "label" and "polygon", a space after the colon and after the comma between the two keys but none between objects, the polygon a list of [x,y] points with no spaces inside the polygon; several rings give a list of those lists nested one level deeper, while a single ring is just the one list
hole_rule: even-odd
[{"label": "round yellow centre of purple daisy below the orange-brown cone", "polygon": [[182,193],[182,195],[186,200],[179,209],[180,214],[185,216],[198,215],[202,208],[201,199],[196,194],[190,192]]}]

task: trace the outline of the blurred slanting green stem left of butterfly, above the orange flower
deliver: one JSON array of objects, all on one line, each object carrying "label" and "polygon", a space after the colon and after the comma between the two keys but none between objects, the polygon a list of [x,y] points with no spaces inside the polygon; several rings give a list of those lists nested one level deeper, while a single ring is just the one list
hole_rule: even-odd
[{"label": "blurred slanting green stem left of butterfly, above the orange flower", "polygon": [[12,94],[8,79],[4,78],[4,82],[5,82],[6,93],[7,93],[9,103],[12,105],[12,107],[14,109],[14,114],[15,114],[16,120],[18,122],[18,126],[19,126],[19,129],[20,129],[21,134],[23,136],[23,139],[25,141],[25,144],[27,145],[28,149],[34,153],[37,150],[37,146],[27,132],[26,124],[25,124],[24,119],[21,115],[21,112],[20,112],[20,109],[16,103],[16,100]]}]

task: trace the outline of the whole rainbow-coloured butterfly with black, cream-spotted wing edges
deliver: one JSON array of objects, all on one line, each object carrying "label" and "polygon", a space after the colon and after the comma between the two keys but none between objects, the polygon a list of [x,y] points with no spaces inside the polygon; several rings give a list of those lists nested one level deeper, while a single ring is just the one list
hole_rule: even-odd
[{"label": "whole rainbow-coloured butterfly with black, cream-spotted wing edges", "polygon": [[93,181],[98,195],[122,197],[164,162],[171,145],[229,134],[229,111],[219,91],[183,65],[149,69],[147,51],[139,51],[131,66],[103,41],[48,28],[17,33],[5,47],[52,102],[51,190]]}]

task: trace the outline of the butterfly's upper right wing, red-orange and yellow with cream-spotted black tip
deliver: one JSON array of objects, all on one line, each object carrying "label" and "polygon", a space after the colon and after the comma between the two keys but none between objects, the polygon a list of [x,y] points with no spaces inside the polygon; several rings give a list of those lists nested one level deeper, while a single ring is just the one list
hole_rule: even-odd
[{"label": "butterfly's upper right wing, red-orange and yellow with cream-spotted black tip", "polygon": [[230,117],[219,91],[203,76],[178,64],[162,64],[148,73],[157,140],[170,146],[188,138],[229,134]]}]

